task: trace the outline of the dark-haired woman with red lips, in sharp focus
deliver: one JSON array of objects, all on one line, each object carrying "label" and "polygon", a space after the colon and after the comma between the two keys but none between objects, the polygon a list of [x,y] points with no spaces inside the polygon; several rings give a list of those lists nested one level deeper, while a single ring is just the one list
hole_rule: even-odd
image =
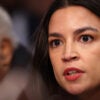
[{"label": "dark-haired woman with red lips, in sharp focus", "polygon": [[100,99],[99,0],[56,0],[34,37],[34,70],[51,100]]}]

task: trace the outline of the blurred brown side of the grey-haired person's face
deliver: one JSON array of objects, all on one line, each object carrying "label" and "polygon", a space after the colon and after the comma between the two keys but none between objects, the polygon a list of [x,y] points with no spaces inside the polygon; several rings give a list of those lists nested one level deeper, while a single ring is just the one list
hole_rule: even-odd
[{"label": "blurred brown side of the grey-haired person's face", "polygon": [[9,38],[3,38],[0,42],[0,79],[9,71],[13,57],[13,45]]}]

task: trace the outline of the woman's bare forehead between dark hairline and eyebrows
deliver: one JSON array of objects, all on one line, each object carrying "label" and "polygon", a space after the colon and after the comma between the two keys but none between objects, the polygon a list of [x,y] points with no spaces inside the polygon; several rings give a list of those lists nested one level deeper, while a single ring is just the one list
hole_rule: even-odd
[{"label": "woman's bare forehead between dark hairline and eyebrows", "polygon": [[65,26],[66,28],[73,26],[76,29],[90,25],[100,26],[100,18],[84,7],[70,6],[53,13],[49,22],[49,30],[63,30]]}]

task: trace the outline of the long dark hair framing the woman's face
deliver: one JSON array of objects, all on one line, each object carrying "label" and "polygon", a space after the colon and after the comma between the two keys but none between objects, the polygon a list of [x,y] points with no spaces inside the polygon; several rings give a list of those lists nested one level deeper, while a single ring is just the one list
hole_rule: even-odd
[{"label": "long dark hair framing the woman's face", "polygon": [[50,6],[50,9],[48,9],[40,26],[34,33],[33,67],[34,70],[40,73],[45,85],[49,87],[49,91],[51,90],[53,92],[55,90],[57,91],[59,86],[54,78],[48,54],[48,25],[52,14],[56,10],[68,6],[83,6],[100,17],[100,0],[55,0]]}]

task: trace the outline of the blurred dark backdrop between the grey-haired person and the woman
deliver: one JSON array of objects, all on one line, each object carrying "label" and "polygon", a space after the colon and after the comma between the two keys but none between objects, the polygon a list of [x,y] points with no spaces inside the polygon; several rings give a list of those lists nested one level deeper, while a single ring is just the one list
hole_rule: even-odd
[{"label": "blurred dark backdrop between the grey-haired person and the woman", "polygon": [[44,12],[54,0],[0,0],[10,14],[13,30],[21,43],[29,48],[32,34],[40,23]]}]

